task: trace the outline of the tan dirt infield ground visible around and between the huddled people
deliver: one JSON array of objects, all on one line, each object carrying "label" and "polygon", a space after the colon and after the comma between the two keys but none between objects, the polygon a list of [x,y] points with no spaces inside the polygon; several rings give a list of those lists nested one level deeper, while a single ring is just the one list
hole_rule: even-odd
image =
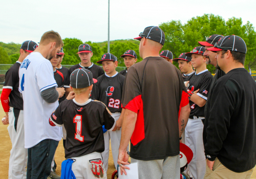
[{"label": "tan dirt infield ground visible around and between the huddled people", "polygon": [[[2,104],[0,107],[0,119],[5,116]],[[9,137],[9,133],[7,130],[8,125],[3,125],[2,122],[0,124],[0,178],[8,178],[8,167],[9,167],[9,157],[10,150],[12,147],[11,140]],[[65,160],[64,148],[62,144],[62,140],[59,142],[55,153],[55,162],[57,164],[56,173],[60,175],[61,173],[61,162]],[[112,158],[112,152],[110,148],[110,157],[109,157],[109,169],[108,169],[108,179],[111,179],[112,173],[115,171],[115,166]],[[251,175],[252,179],[256,179],[256,170],[253,171]]]}]

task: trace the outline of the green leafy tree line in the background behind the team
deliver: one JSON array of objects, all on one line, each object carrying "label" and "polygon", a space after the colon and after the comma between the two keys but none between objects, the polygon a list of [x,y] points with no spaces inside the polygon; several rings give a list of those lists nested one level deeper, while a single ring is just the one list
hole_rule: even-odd
[{"label": "green leafy tree line in the background behind the team", "polygon": [[[256,69],[256,32],[252,24],[247,21],[243,25],[242,18],[229,18],[225,21],[221,16],[214,14],[204,14],[189,19],[185,24],[180,20],[171,20],[162,23],[159,27],[165,33],[165,44],[162,50],[173,52],[174,58],[177,58],[183,52],[190,52],[194,47],[199,46],[198,41],[205,41],[206,37],[212,34],[220,35],[238,35],[242,37],[247,45],[247,54],[245,68],[248,70]],[[65,56],[62,64],[77,64],[80,58],[76,54],[80,44],[84,43],[77,38],[63,39],[63,51]],[[107,52],[108,44],[104,42],[86,41],[93,49],[92,62],[100,60],[101,55]],[[13,64],[19,57],[20,44],[0,42],[0,64]],[[118,59],[119,66],[124,66],[123,59],[120,57],[126,50],[132,49],[139,56],[139,41],[134,39],[113,40],[110,42],[110,53]],[[174,62],[178,66],[177,62]],[[207,65],[211,73],[215,73],[212,65]]]}]

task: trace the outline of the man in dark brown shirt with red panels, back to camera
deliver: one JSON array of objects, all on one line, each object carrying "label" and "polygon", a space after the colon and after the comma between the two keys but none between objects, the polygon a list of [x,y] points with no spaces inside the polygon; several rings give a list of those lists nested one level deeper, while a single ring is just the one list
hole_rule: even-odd
[{"label": "man in dark brown shirt with red panels, back to camera", "polygon": [[131,139],[131,162],[139,163],[139,178],[178,178],[178,111],[183,79],[172,63],[159,56],[165,40],[159,27],[147,27],[135,39],[140,40],[143,60],[129,68],[124,81],[118,164],[126,174],[126,147]]}]

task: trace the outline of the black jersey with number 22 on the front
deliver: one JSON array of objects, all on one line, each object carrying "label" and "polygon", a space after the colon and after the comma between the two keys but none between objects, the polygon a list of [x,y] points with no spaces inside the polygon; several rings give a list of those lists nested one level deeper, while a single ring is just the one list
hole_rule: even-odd
[{"label": "black jersey with number 22 on the front", "polygon": [[101,75],[97,78],[98,82],[93,85],[91,99],[103,102],[111,113],[121,113],[124,79],[120,73],[112,77]]}]

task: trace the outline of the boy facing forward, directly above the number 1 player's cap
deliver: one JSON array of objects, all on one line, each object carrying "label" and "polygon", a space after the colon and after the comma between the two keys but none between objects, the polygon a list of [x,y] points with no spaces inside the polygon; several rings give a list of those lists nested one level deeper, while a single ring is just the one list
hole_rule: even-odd
[{"label": "boy facing forward, directly above the number 1 player's cap", "polygon": [[95,79],[97,79],[100,75],[104,74],[100,66],[95,65],[93,62],[91,62],[91,57],[93,56],[93,50],[89,44],[87,43],[80,44],[77,54],[79,55],[81,62],[74,66],[71,66],[71,68],[69,69],[69,75],[68,75],[69,77],[74,70],[79,68],[90,70],[93,74],[93,78]]}]

